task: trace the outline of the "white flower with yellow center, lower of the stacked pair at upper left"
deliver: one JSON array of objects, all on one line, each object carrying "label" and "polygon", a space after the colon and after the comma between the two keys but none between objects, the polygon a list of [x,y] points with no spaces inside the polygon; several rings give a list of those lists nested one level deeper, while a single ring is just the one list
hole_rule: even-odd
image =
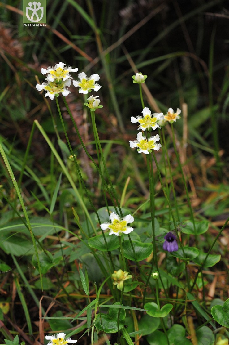
[{"label": "white flower with yellow center, lower of the stacked pair at upper left", "polygon": [[49,81],[49,82],[43,82],[40,84],[37,84],[36,89],[38,91],[41,90],[46,90],[46,93],[44,95],[44,97],[49,96],[50,99],[54,99],[55,95],[59,95],[59,93],[62,93],[62,95],[64,97],[66,97],[67,95],[69,95],[69,93],[71,93],[71,91],[69,91],[66,86],[70,86],[72,83],[71,79],[67,79],[65,81],[59,81],[59,82],[53,82],[53,81]]}]

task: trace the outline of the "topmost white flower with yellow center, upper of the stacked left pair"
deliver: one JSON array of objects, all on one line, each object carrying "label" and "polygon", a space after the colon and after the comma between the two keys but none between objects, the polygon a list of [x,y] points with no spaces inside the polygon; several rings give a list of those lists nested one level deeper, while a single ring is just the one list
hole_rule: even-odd
[{"label": "topmost white flower with yellow center, upper of the stacked left pair", "polygon": [[46,74],[49,73],[45,80],[48,81],[54,81],[54,79],[57,79],[60,81],[60,79],[67,80],[69,78],[72,78],[72,76],[69,74],[70,72],[77,72],[78,68],[72,68],[71,66],[65,66],[65,63],[59,62],[56,63],[54,68],[48,67],[47,69],[42,68],[41,73]]}]

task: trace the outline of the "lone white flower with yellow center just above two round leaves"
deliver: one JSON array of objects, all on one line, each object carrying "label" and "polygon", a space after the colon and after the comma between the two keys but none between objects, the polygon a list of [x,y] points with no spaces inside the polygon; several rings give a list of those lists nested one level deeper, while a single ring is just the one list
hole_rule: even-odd
[{"label": "lone white flower with yellow center just above two round leaves", "polygon": [[134,228],[127,225],[127,223],[133,223],[134,217],[131,215],[119,218],[114,212],[110,214],[108,223],[100,224],[102,230],[110,229],[109,235],[121,236],[122,234],[129,234]]}]

